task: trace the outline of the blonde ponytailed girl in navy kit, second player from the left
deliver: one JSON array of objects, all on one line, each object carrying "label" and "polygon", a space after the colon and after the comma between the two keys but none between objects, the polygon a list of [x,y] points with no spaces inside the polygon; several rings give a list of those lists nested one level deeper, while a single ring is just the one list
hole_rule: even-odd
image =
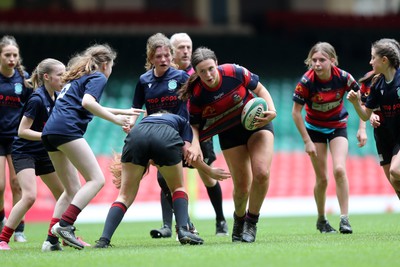
[{"label": "blonde ponytailed girl in navy kit, second player from the left", "polygon": [[[11,153],[22,198],[11,210],[0,234],[0,250],[10,249],[8,242],[11,235],[36,200],[36,176],[42,178],[55,199],[64,191],[41,140],[42,129],[57,97],[56,92],[62,88],[61,75],[64,72],[63,63],[48,58],[40,62],[32,73],[30,80],[36,89],[23,107],[18,137],[13,142]],[[54,245],[45,242],[43,250],[62,250],[58,238],[56,240]]]}]

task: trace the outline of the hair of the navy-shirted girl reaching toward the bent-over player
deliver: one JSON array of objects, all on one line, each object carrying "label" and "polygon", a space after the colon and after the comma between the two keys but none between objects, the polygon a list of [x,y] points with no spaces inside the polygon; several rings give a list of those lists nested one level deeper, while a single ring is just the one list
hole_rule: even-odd
[{"label": "hair of the navy-shirted girl reaching toward the bent-over player", "polygon": [[62,78],[63,83],[93,73],[100,68],[102,63],[113,61],[116,57],[117,53],[108,44],[93,45],[70,59],[67,71]]}]

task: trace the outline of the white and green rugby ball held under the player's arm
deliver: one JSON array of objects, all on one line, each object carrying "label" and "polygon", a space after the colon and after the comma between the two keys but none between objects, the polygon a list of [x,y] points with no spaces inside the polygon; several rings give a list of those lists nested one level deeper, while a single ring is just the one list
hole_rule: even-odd
[{"label": "white and green rugby ball held under the player's arm", "polygon": [[256,122],[255,117],[264,117],[263,112],[268,110],[267,102],[264,98],[256,97],[251,99],[243,108],[241,122],[246,130],[252,131],[257,129],[254,126]]}]

